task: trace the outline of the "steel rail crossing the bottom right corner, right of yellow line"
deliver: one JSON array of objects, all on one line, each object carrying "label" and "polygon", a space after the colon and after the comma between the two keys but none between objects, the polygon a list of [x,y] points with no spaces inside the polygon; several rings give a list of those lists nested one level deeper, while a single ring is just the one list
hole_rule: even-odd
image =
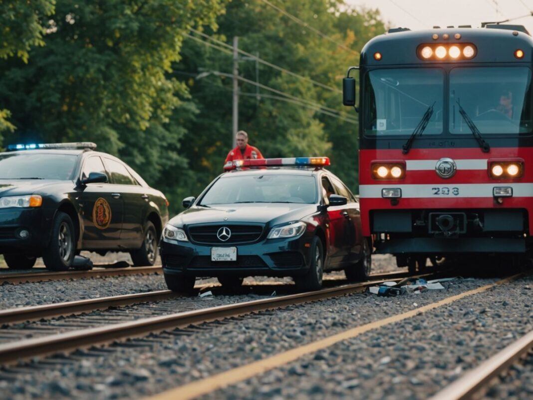
[{"label": "steel rail crossing the bottom right corner, right of yellow line", "polygon": [[533,348],[533,331],[523,335],[520,339],[511,343],[503,350],[496,353],[474,369],[466,372],[430,400],[466,400],[477,398],[475,396],[490,386],[490,382],[497,378],[508,367],[514,364],[522,356]]}]

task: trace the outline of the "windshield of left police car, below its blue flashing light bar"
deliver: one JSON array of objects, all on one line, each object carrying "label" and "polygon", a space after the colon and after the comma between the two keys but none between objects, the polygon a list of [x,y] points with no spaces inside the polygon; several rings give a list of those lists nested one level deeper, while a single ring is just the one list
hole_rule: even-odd
[{"label": "windshield of left police car, below its blue flashing light bar", "polygon": [[71,154],[0,154],[0,179],[68,180],[76,158]]}]

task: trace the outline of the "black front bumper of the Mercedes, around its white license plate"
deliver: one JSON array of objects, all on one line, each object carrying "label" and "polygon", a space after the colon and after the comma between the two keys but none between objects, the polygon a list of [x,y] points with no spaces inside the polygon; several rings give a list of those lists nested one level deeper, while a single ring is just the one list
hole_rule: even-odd
[{"label": "black front bumper of the Mercedes, around its white license plate", "polygon": [[295,276],[309,269],[312,236],[266,239],[252,244],[213,245],[237,247],[237,261],[211,261],[211,245],[161,241],[160,254],[166,274],[192,276]]}]

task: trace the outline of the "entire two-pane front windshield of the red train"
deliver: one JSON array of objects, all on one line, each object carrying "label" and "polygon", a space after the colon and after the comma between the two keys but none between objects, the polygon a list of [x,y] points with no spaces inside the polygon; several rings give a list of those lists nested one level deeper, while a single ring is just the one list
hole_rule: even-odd
[{"label": "entire two-pane front windshield of the red train", "polygon": [[[423,135],[472,134],[462,109],[482,134],[531,133],[531,70],[527,67],[376,69],[365,78],[364,133],[409,136],[432,108]],[[445,79],[449,92],[445,93]],[[448,110],[443,108],[443,99]],[[448,115],[446,115],[448,113]]]}]

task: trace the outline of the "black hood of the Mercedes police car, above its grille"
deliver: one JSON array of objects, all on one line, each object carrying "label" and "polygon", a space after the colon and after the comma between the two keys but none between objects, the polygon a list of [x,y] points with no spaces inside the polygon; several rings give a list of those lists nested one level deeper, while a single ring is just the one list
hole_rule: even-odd
[{"label": "black hood of the Mercedes police car, above its grille", "polygon": [[195,223],[265,223],[270,226],[279,223],[296,221],[316,212],[316,204],[297,203],[251,203],[228,204],[211,207],[193,206],[185,210],[169,223],[175,227],[193,225]]}]

